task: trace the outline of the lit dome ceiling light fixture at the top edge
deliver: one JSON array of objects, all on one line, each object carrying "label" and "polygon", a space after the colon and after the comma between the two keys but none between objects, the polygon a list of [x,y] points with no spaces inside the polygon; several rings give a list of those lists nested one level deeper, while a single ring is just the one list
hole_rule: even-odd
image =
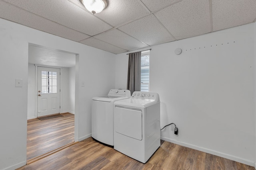
[{"label": "lit dome ceiling light fixture at the top edge", "polygon": [[107,0],[80,0],[82,4],[84,4],[85,8],[92,12],[92,14],[96,14],[102,12],[107,5]]}]

